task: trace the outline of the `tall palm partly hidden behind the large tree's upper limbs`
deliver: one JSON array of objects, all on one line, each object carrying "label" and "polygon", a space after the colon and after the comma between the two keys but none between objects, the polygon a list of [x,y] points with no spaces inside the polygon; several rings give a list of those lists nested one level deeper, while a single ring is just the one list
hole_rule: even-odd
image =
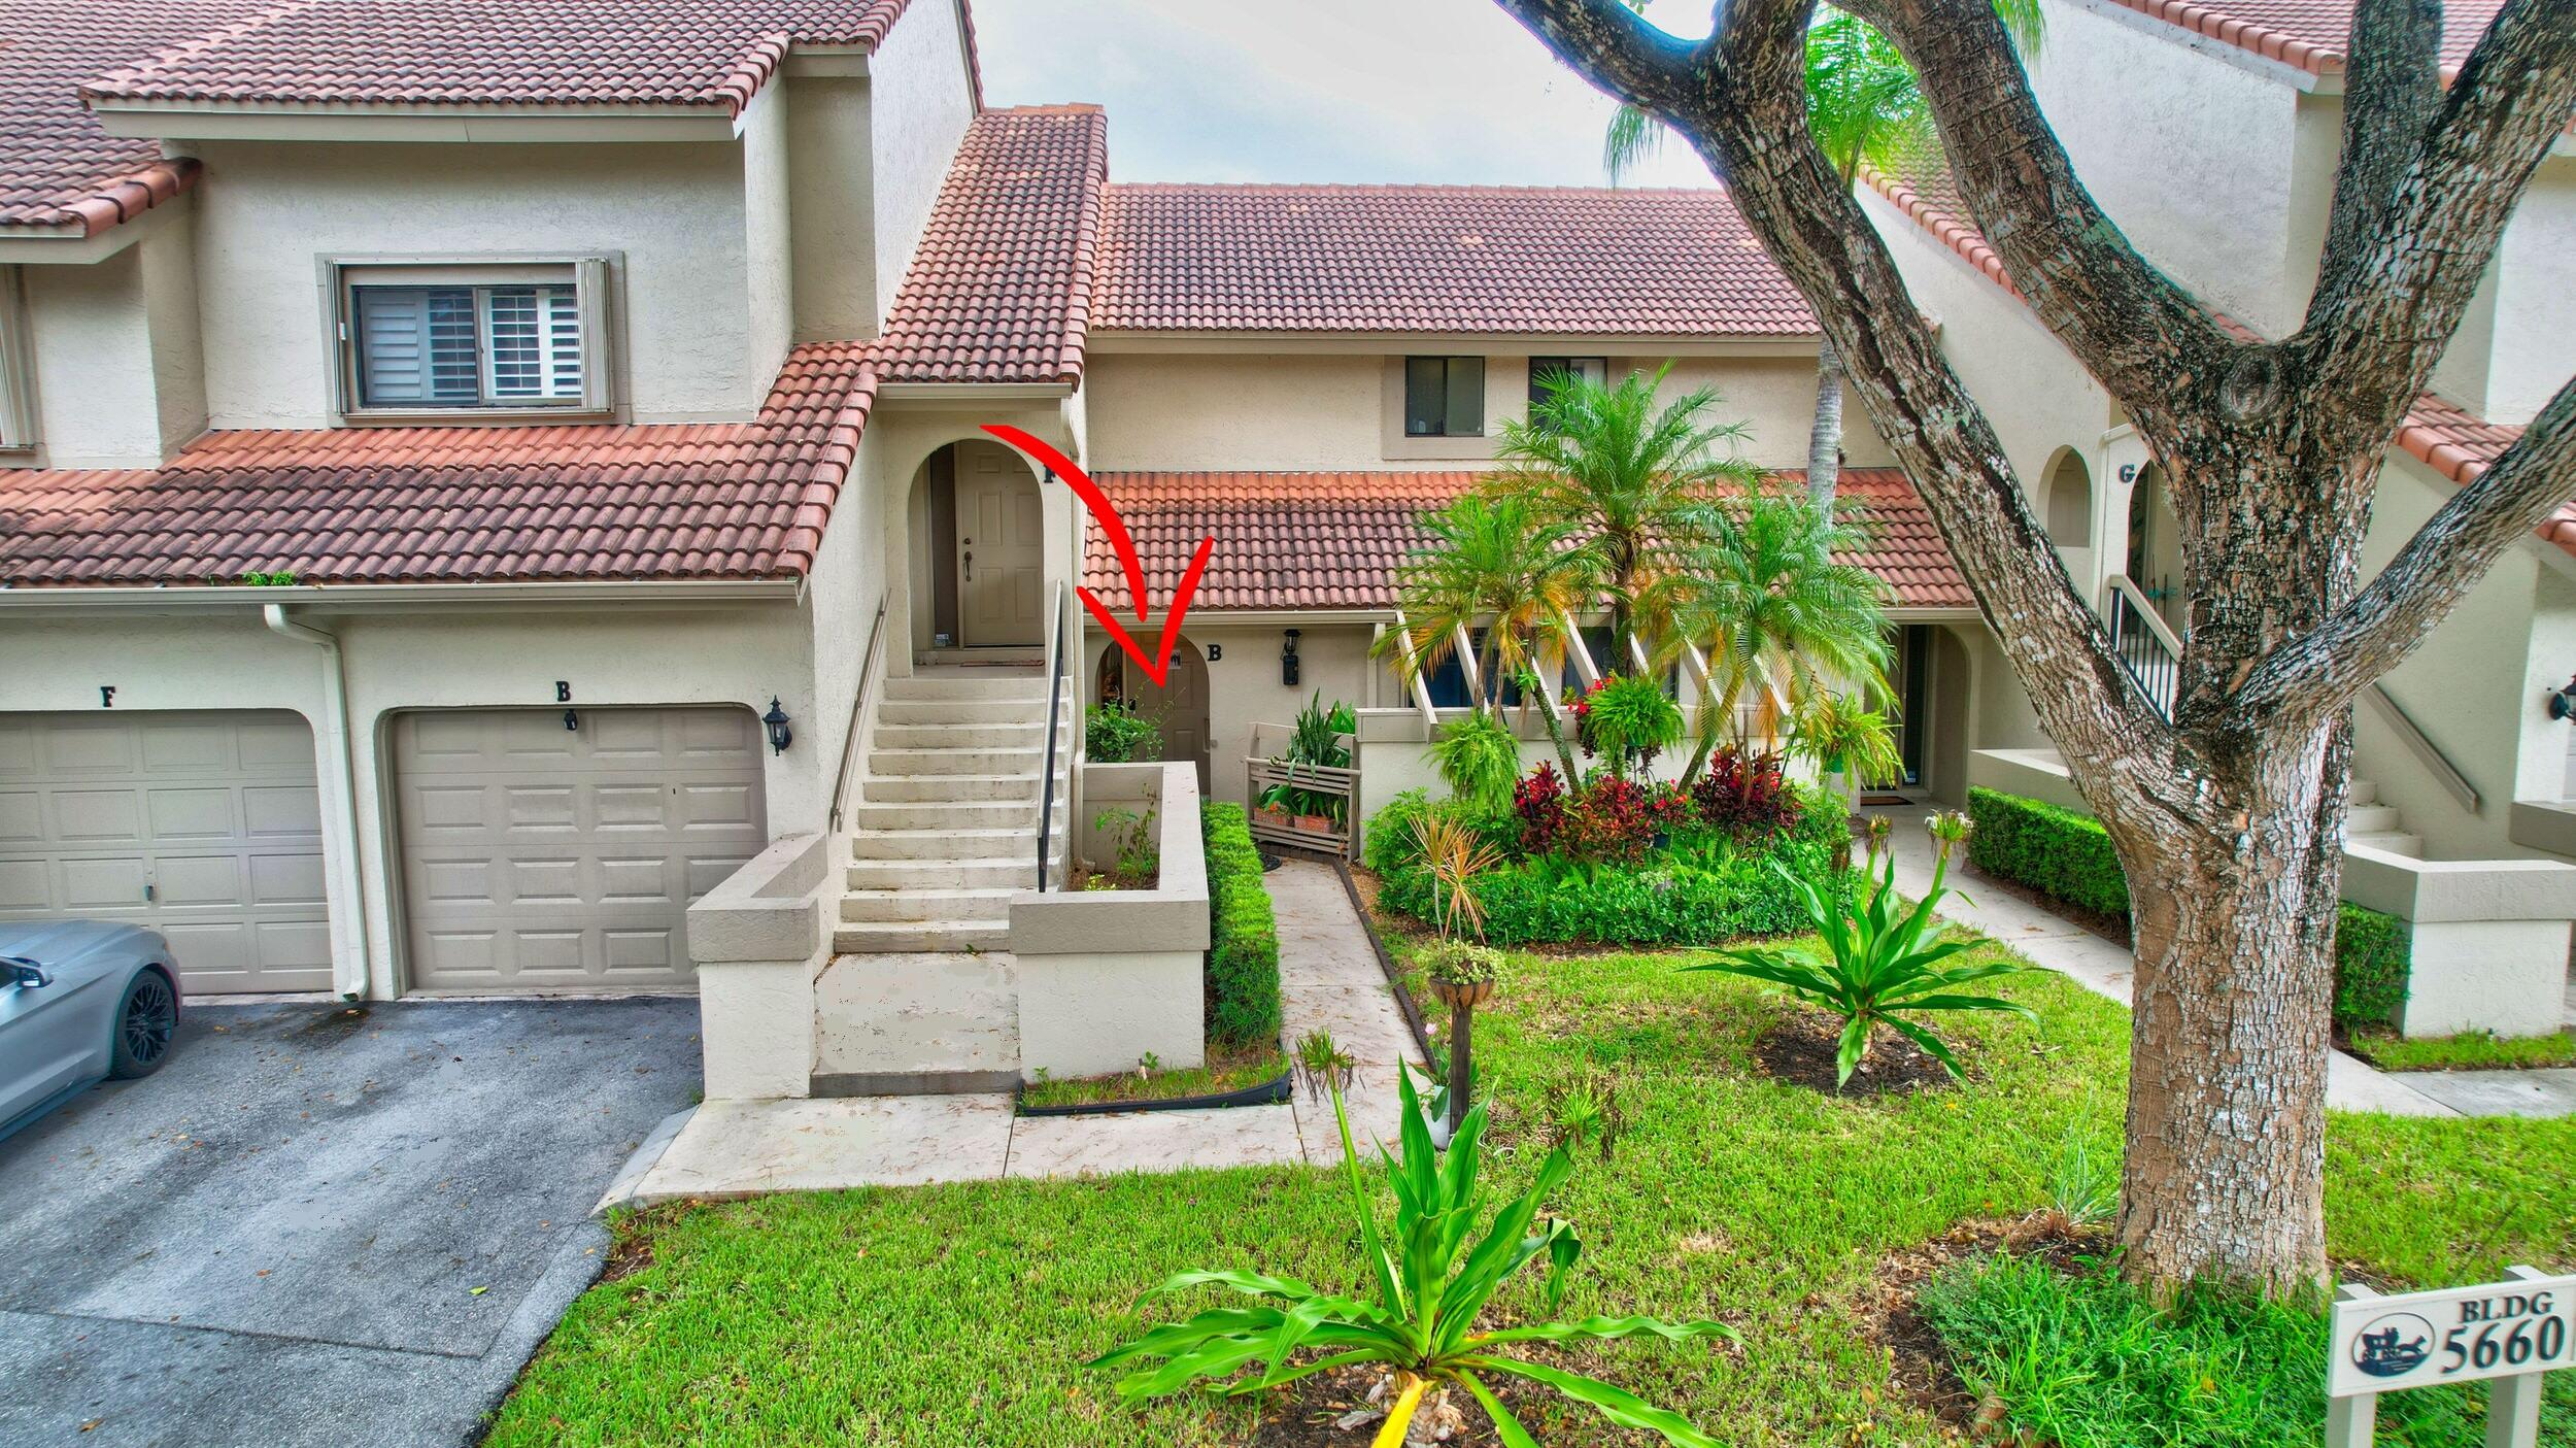
[{"label": "tall palm partly hidden behind the large tree's upper limbs", "polygon": [[[1628,0],[1641,8],[1641,0]],[[2040,46],[2040,0],[1994,0],[2022,54]],[[1893,170],[1906,157],[1937,144],[1932,108],[1924,106],[1922,85],[1906,57],[1865,21],[1816,8],[1816,21],[1806,31],[1806,126],[1816,137],[1816,149],[1842,175],[1844,191],[1860,178],[1862,165]],[[1610,186],[1638,162],[1659,152],[1664,124],[1620,106],[1610,116],[1602,137],[1602,170]],[[1834,340],[1816,345],[1816,420],[1806,435],[1806,495],[1821,510],[1834,510],[1834,484],[1842,479],[1842,356]]]}]

